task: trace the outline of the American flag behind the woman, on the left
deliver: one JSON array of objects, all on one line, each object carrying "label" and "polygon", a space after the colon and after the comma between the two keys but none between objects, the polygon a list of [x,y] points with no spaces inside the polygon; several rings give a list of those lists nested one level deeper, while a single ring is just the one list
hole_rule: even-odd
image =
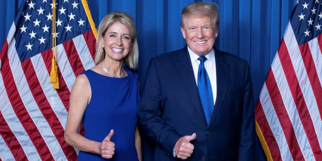
[{"label": "American flag behind the woman, on the left", "polygon": [[[53,35],[58,90],[50,83]],[[69,94],[95,65],[96,35],[86,0],[22,2],[0,53],[0,160],[77,158],[63,137]]]}]

